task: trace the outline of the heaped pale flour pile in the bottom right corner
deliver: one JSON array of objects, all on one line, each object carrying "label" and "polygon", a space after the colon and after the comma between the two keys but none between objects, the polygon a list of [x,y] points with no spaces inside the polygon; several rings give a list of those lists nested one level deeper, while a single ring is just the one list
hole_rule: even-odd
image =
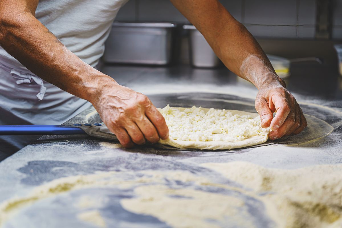
[{"label": "heaped pale flour pile in the bottom right corner", "polygon": [[248,162],[203,166],[259,195],[277,227],[342,227],[342,164],[295,170],[266,169]]}]

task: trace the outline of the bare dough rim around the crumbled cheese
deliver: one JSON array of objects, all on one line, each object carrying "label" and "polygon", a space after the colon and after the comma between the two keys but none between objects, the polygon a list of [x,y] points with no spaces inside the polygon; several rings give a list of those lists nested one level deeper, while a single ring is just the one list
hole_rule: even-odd
[{"label": "bare dough rim around the crumbled cheese", "polygon": [[[171,107],[183,111],[186,108],[183,107]],[[189,107],[188,107],[189,108]],[[203,108],[206,112],[210,108]],[[158,108],[160,110],[160,108]],[[230,110],[226,109],[227,111],[231,111],[233,114],[238,115],[250,115],[253,118],[257,117],[259,114],[255,112],[246,112],[240,110]],[[248,139],[241,140],[241,141],[234,141],[234,142],[224,142],[224,141],[183,141],[183,140],[174,140],[174,139],[160,139],[159,143],[163,145],[173,146],[180,149],[200,149],[200,150],[231,150],[235,148],[242,148],[242,147],[249,147],[255,146],[262,143],[265,143],[268,139],[268,133],[265,136],[252,136]]]}]

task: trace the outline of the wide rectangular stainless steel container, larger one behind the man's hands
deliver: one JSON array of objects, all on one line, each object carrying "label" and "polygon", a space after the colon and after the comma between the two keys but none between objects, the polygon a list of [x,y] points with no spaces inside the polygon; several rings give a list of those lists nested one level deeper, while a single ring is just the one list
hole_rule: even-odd
[{"label": "wide rectangular stainless steel container, larger one behind the man's hands", "polygon": [[170,64],[175,27],[172,23],[114,22],[105,42],[103,61],[121,64]]}]

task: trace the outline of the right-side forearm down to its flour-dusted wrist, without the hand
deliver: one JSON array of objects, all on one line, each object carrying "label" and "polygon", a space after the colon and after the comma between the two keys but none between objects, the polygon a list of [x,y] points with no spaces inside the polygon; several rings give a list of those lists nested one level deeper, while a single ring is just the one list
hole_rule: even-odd
[{"label": "right-side forearm down to its flour-dusted wrist, without the hand", "polygon": [[258,42],[217,0],[171,0],[196,26],[228,69],[258,89],[283,84]]}]

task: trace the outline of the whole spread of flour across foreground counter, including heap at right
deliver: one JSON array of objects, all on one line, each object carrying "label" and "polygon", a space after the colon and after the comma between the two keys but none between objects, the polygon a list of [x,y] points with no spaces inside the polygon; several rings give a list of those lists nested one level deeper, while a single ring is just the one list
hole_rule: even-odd
[{"label": "whole spread of flour across foreground counter, including heap at right", "polygon": [[[2,202],[0,226],[22,226],[31,219],[27,211],[62,210],[70,224],[84,227],[341,227],[341,173],[341,164],[288,170],[241,161],[100,171],[58,178]],[[70,199],[76,203],[66,204]]]}]

